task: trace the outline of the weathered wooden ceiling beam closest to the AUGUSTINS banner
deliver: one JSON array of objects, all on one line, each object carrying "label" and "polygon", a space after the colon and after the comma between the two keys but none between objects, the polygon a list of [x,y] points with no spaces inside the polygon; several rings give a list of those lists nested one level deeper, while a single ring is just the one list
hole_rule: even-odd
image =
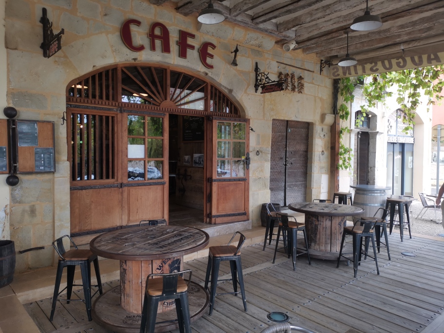
[{"label": "weathered wooden ceiling beam closest to the AUGUSTINS banner", "polygon": [[[392,44],[398,44],[410,40],[444,34],[444,17],[442,13],[441,13],[441,19],[433,21],[430,24],[422,24],[422,25],[413,24],[413,25],[415,26],[415,28],[408,30],[394,29],[392,31],[392,34],[386,36],[379,36],[377,38],[371,38],[371,39],[366,38],[365,40],[362,40],[359,43],[355,43],[352,45],[349,44],[349,53],[353,54],[357,52],[365,52],[367,50],[381,48]],[[396,31],[397,33],[395,34]],[[338,48],[323,50],[322,52],[316,53],[316,56],[319,57],[336,56],[336,55],[343,55],[346,52],[347,52],[347,46],[342,46]]]}]

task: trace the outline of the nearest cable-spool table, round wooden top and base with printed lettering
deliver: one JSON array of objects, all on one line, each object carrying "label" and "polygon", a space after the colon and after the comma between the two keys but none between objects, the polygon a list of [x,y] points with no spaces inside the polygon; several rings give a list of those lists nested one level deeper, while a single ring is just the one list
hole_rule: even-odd
[{"label": "nearest cable-spool table, round wooden top and base with printed lettering", "polygon": [[[206,232],[196,228],[147,225],[110,231],[91,240],[92,253],[120,260],[120,286],[94,302],[94,321],[114,332],[139,332],[148,275],[181,271],[183,256],[203,249],[209,239]],[[188,302],[193,322],[208,307],[208,292],[191,282]],[[174,330],[178,327],[176,318],[174,300],[159,303],[157,322],[162,323],[156,324],[155,332]]]}]

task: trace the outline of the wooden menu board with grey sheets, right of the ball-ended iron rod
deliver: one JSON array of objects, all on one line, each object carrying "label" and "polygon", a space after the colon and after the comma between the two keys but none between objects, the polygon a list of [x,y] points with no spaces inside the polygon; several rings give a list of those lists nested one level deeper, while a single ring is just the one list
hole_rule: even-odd
[{"label": "wooden menu board with grey sheets, right of the ball-ended iron rod", "polygon": [[15,120],[16,173],[55,172],[54,122]]}]

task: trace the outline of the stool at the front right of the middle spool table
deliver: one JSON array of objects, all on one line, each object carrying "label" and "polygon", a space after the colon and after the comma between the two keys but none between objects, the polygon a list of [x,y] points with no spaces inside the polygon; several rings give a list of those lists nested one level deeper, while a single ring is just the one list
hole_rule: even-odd
[{"label": "stool at the front right of the middle spool table", "polygon": [[[352,226],[344,227],[344,232],[342,234],[342,241],[341,241],[341,250],[339,251],[339,256],[338,256],[336,268],[339,267],[339,261],[341,260],[341,257],[344,257],[345,259],[347,259],[347,264],[349,263],[349,261],[353,262],[354,277],[356,277],[356,275],[358,273],[358,265],[361,263],[362,241],[364,239],[367,239],[370,237],[371,244],[373,246],[374,257],[370,257],[368,255],[367,248],[365,249],[365,257],[366,258],[370,257],[370,258],[374,259],[374,261],[376,263],[376,271],[378,272],[378,275],[379,275],[378,259],[376,258],[376,246],[374,243],[374,233],[373,233],[376,222],[377,222],[376,219],[370,220],[370,221],[358,220]],[[353,236],[353,257],[352,257],[353,259],[346,257],[346,256],[350,255],[350,253],[349,254],[342,253],[346,235]]]}]

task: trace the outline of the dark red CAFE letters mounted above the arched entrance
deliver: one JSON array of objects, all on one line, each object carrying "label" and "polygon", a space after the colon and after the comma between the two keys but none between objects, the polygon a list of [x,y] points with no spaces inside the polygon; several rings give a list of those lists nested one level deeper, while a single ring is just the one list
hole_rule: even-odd
[{"label": "dark red CAFE letters mounted above the arched entrance", "polygon": [[[145,50],[145,45],[134,45],[131,37],[131,27],[130,25],[134,24],[140,26],[142,24],[141,21],[137,19],[128,19],[120,28],[120,36],[126,47],[133,52],[141,52]],[[156,29],[158,34],[156,34]],[[180,30],[179,40],[177,41],[177,45],[179,45],[179,56],[181,58],[186,59],[188,50],[194,50],[195,46],[188,44],[188,38],[194,39],[196,35],[191,34],[189,32]],[[171,53],[171,48],[169,44],[169,31],[163,23],[154,22],[151,24],[151,27],[148,32],[148,38],[150,39],[150,48],[151,51],[156,51],[156,40],[160,40],[162,45],[162,53]],[[216,49],[216,45],[210,42],[204,42],[199,49],[199,56],[201,58],[203,66],[209,69],[213,69],[214,66],[208,63],[208,58],[213,59],[214,55],[212,55],[208,48]]]}]

